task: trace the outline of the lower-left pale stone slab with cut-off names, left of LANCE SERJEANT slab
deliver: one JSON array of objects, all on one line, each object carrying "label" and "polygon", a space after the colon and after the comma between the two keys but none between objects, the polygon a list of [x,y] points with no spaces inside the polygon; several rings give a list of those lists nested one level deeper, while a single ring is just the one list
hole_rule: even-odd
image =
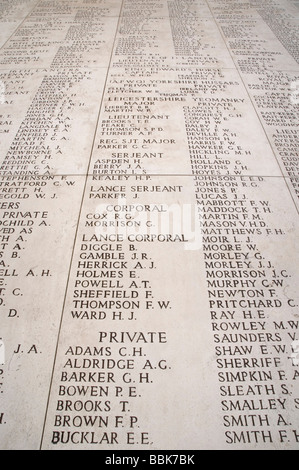
[{"label": "lower-left pale stone slab with cut-off names, left of LANCE SERJEANT slab", "polygon": [[[77,178],[67,176],[0,178],[0,309],[5,349],[1,368],[1,439],[3,448],[36,448],[67,276],[67,264],[61,255],[64,260],[71,255],[72,226],[83,188]],[[70,194],[73,207],[67,211],[60,208],[61,218],[57,218],[57,205],[63,205]],[[45,256],[45,247],[56,256]],[[41,293],[42,299],[32,306],[32,298]],[[32,400],[39,400],[40,405],[32,407]],[[23,418],[17,429],[16,414]],[[33,423],[35,432],[24,444],[24,435]]]}]

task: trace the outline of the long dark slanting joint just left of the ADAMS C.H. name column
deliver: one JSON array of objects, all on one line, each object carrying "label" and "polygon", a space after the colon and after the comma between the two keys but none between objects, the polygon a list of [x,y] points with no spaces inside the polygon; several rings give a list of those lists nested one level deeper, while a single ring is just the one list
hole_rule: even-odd
[{"label": "long dark slanting joint just left of the ADAMS C.H. name column", "polygon": [[67,281],[66,281],[65,294],[64,294],[63,305],[62,305],[62,310],[61,310],[61,318],[60,318],[60,323],[59,323],[59,328],[58,328],[58,334],[57,334],[57,340],[56,340],[56,348],[55,348],[54,359],[53,359],[53,366],[52,366],[51,379],[50,379],[50,384],[49,384],[48,398],[47,398],[47,404],[46,404],[45,416],[44,416],[44,422],[43,422],[43,429],[42,429],[41,439],[40,439],[40,446],[39,446],[39,449],[40,449],[40,450],[42,450],[42,446],[43,446],[43,440],[44,440],[44,434],[45,434],[45,426],[46,426],[46,421],[47,421],[48,408],[49,408],[49,402],[50,402],[50,396],[51,396],[51,390],[52,390],[52,383],[53,383],[53,376],[54,376],[54,370],[55,370],[55,364],[56,364],[56,357],[57,357],[57,351],[58,351],[58,345],[59,345],[59,338],[60,338],[60,333],[61,333],[61,328],[62,328],[62,321],[63,321],[63,314],[64,314],[64,309],[65,309],[65,304],[66,304],[66,297],[67,297],[67,293],[68,293],[68,286],[69,286],[71,268],[72,268],[73,259],[74,259],[75,244],[76,244],[76,239],[77,239],[77,234],[78,234],[78,229],[79,229],[79,223],[80,223],[80,219],[81,219],[82,206],[83,206],[84,196],[85,196],[85,192],[86,192],[87,180],[88,180],[88,178],[89,178],[89,176],[90,176],[90,174],[89,174],[89,167],[90,167],[91,158],[92,158],[92,154],[93,154],[94,143],[95,143],[95,137],[96,137],[96,133],[97,133],[97,128],[98,128],[98,123],[99,123],[99,119],[100,119],[100,114],[101,114],[101,109],[102,109],[102,105],[103,105],[103,100],[104,100],[104,96],[105,96],[105,89],[106,89],[106,84],[107,84],[107,78],[108,78],[108,74],[109,74],[109,70],[110,70],[110,64],[111,64],[111,60],[112,60],[112,56],[113,56],[113,52],[114,52],[114,45],[115,45],[116,36],[117,36],[117,33],[118,33],[119,23],[120,23],[120,19],[121,19],[121,13],[122,13],[122,9],[123,9],[123,3],[124,3],[124,0],[122,0],[122,2],[121,2],[120,12],[119,12],[119,16],[118,16],[118,22],[117,22],[116,30],[115,30],[115,34],[114,34],[114,40],[113,40],[113,43],[112,43],[112,45],[111,45],[110,60],[109,60],[108,66],[107,66],[106,78],[105,78],[105,83],[104,83],[103,92],[102,92],[102,98],[101,98],[101,101],[100,101],[100,106],[99,106],[99,111],[98,111],[96,126],[95,126],[95,130],[94,130],[94,137],[93,137],[92,144],[91,144],[91,150],[90,150],[90,156],[89,156],[89,162],[88,162],[87,172],[86,172],[86,174],[82,175],[82,176],[85,176],[85,183],[84,183],[84,187],[83,187],[83,191],[82,191],[82,198],[81,198],[81,203],[80,203],[80,208],[79,208],[79,214],[78,214],[78,218],[77,218],[76,232],[75,232],[75,236],[74,236],[74,240],[73,240],[72,254],[71,254],[71,259],[70,259],[70,263],[69,263],[68,277],[67,277]]}]

